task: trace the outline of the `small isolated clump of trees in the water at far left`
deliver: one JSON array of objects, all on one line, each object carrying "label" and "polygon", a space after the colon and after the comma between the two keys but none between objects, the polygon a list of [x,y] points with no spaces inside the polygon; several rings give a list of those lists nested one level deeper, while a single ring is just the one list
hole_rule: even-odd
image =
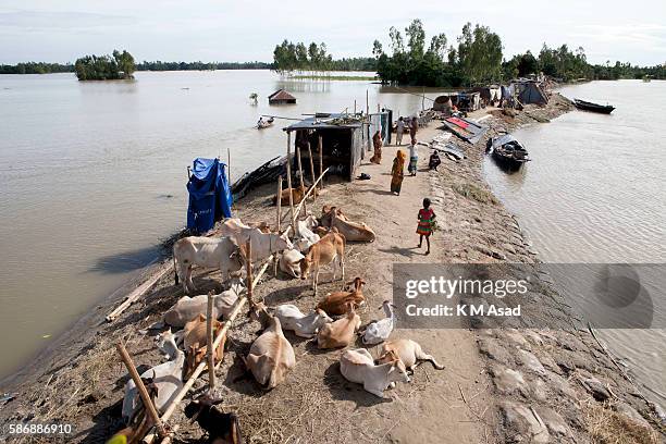
[{"label": "small isolated clump of trees in the water at far left", "polygon": [[115,81],[134,78],[134,57],[127,51],[114,50],[111,55],[85,55],[74,63],[79,81]]}]

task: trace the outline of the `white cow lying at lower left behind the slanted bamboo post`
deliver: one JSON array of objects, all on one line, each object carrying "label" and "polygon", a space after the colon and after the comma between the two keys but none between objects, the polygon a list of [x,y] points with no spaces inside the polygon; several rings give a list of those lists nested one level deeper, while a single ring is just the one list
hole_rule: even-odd
[{"label": "white cow lying at lower left behind the slanted bamboo post", "polygon": [[[155,407],[160,414],[175,398],[177,392],[183,387],[183,365],[185,354],[176,347],[175,338],[171,331],[166,331],[159,336],[158,348],[169,355],[170,360],[146,370],[141,378],[152,379],[152,383],[158,388],[155,399]],[[125,398],[123,399],[123,419],[128,421],[135,414],[138,406],[139,395],[134,384],[134,380],[125,384]]]}]

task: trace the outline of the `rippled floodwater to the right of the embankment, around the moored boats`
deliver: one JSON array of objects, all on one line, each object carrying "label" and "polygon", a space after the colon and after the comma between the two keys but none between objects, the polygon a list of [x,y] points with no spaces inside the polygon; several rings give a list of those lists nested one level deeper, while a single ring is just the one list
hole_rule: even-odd
[{"label": "rippled floodwater to the right of the embankment, around the moored boats", "polygon": [[[592,82],[560,92],[607,100],[617,109],[610,115],[570,112],[517,131],[514,136],[533,161],[507,174],[486,159],[493,192],[518,217],[545,262],[664,263],[666,114],[661,99],[666,82]],[[664,289],[655,297],[655,308],[663,307]],[[606,329],[600,336],[641,391],[665,406],[665,331]]]}]

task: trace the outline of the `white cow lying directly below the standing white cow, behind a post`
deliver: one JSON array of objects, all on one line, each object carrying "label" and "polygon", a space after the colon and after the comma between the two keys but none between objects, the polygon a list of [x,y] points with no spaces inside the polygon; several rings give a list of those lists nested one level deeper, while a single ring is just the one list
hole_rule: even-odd
[{"label": "white cow lying directly below the standing white cow, behind a post", "polygon": [[[243,291],[245,291],[245,285],[238,280],[232,280],[230,289],[214,295],[213,318],[227,319]],[[198,318],[199,314],[206,314],[207,310],[208,295],[183,296],[164,313],[164,323],[183,328],[187,322]]]}]

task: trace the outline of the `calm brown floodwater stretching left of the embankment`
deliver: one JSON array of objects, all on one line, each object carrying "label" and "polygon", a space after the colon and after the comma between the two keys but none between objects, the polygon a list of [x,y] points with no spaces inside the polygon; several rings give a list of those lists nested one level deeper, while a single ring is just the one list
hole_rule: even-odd
[{"label": "calm brown floodwater stretching left of the embankment", "polygon": [[[282,87],[298,104],[268,106]],[[229,150],[234,181],[286,150],[281,128],[292,121],[257,131],[260,114],[353,111],[355,100],[360,110],[366,91],[371,111],[378,103],[405,115],[421,108],[415,95],[366,81],[283,81],[269,71],[90,83],[73,74],[0,76],[0,337],[11,337],[0,342],[0,379],[185,225],[195,157],[226,160]]]}]

